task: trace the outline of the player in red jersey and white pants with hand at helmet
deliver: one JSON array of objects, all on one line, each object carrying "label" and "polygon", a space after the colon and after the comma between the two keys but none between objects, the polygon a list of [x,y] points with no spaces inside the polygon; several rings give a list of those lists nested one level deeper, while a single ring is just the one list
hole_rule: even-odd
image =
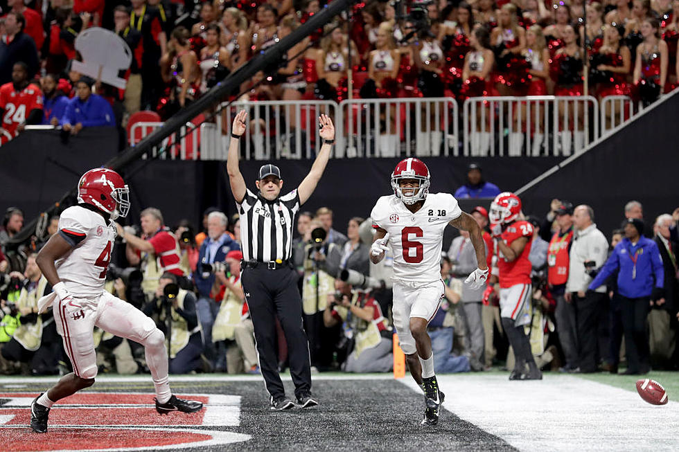
[{"label": "player in red jersey and white pants with hand at helmet", "polygon": [[[543,374],[533,359],[524,325],[531,322],[529,312],[531,261],[528,255],[533,242],[533,225],[523,221],[521,199],[510,192],[500,193],[491,203],[489,213],[493,238],[497,241],[497,267],[500,271],[500,317],[509,338],[516,363],[510,380],[541,380]],[[528,372],[526,372],[528,364]]]}]

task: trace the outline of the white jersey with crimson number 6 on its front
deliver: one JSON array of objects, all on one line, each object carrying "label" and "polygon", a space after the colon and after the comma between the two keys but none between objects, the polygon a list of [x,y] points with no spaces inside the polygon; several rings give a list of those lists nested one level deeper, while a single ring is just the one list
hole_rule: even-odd
[{"label": "white jersey with crimson number 6 on its front", "polygon": [[440,280],[443,230],[461,213],[457,200],[448,193],[430,193],[416,213],[410,212],[394,195],[378,199],[370,216],[374,227],[389,233],[394,280]]}]

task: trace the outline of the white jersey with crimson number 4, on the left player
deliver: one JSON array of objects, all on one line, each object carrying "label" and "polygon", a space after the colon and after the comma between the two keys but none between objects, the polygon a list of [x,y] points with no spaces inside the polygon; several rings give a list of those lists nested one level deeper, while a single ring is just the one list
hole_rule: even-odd
[{"label": "white jersey with crimson number 4, on the left player", "polygon": [[73,246],[55,262],[60,280],[74,296],[98,296],[104,289],[115,229],[93,210],[73,206],[61,214],[59,234]]}]

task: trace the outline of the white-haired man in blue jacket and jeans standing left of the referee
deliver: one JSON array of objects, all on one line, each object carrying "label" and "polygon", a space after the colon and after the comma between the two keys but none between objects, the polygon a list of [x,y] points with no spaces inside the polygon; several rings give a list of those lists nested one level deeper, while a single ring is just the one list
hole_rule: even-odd
[{"label": "white-haired man in blue jacket and jeans standing left of the referee", "polygon": [[215,317],[219,309],[218,302],[215,300],[213,285],[215,284],[215,262],[224,262],[229,251],[240,250],[240,245],[236,243],[227,233],[227,216],[216,211],[207,216],[207,238],[203,240],[198,252],[198,264],[193,280],[198,289],[198,301],[196,309],[200,325],[203,329],[205,340],[205,357],[214,366],[217,359],[217,352],[213,343],[212,329]]}]

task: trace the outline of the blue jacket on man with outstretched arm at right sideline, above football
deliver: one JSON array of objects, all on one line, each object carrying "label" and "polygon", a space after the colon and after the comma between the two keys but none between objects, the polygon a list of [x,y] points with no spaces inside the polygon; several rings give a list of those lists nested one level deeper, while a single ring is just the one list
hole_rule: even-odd
[{"label": "blue jacket on man with outstretched arm at right sideline, above football", "polygon": [[[632,278],[635,264],[630,255],[637,257],[636,278]],[[628,238],[617,244],[589,289],[597,289],[616,271],[618,293],[626,298],[650,296],[653,287],[662,289],[664,284],[664,269],[658,245],[646,237],[640,237],[636,246],[632,246]]]}]

